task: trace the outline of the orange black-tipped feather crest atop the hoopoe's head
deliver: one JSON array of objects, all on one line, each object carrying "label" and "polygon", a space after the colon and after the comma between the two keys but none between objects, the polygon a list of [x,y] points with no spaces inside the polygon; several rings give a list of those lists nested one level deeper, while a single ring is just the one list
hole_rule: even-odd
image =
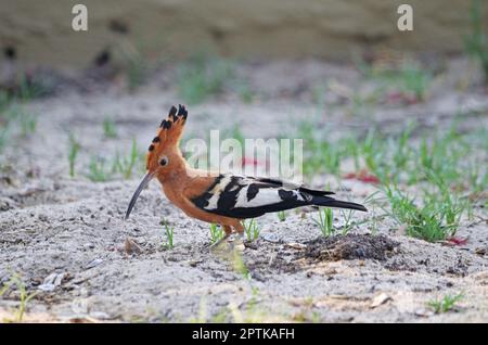
[{"label": "orange black-tipped feather crest atop the hoopoe's head", "polygon": [[168,117],[163,119],[157,136],[149,146],[146,156],[146,165],[154,155],[159,155],[163,149],[178,146],[181,135],[183,132],[184,123],[187,122],[188,111],[184,105],[179,104],[178,108],[174,105],[169,110]]}]

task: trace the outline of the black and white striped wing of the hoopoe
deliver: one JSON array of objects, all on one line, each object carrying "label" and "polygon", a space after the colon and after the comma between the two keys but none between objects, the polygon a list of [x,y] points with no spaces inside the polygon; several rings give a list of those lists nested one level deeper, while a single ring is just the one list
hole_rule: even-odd
[{"label": "black and white striped wing of the hoopoe", "polygon": [[192,202],[206,212],[244,219],[309,205],[311,200],[312,195],[299,186],[293,188],[280,180],[220,175]]}]

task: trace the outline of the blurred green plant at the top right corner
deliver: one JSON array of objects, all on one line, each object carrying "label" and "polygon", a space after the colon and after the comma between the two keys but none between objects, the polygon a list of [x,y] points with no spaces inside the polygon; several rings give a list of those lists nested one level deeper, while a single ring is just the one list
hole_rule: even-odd
[{"label": "blurred green plant at the top right corner", "polygon": [[479,61],[488,85],[488,39],[483,29],[481,0],[472,0],[470,9],[471,33],[464,38],[465,49],[470,55]]}]

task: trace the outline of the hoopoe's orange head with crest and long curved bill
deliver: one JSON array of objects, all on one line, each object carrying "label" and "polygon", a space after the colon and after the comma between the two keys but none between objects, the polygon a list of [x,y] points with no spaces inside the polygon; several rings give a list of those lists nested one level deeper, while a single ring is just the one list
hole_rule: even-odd
[{"label": "hoopoe's orange head with crest and long curved bill", "polygon": [[178,110],[176,106],[171,106],[168,117],[160,123],[145,158],[147,173],[130,200],[126,219],[129,218],[139,194],[154,177],[164,183],[172,175],[179,174],[181,169],[185,168],[185,163],[179,149],[179,141],[187,116],[187,108],[180,104]]}]

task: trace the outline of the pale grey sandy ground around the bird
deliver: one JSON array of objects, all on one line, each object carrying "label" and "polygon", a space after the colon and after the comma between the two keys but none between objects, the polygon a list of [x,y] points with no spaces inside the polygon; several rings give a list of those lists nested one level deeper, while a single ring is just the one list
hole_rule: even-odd
[{"label": "pale grey sandy ground around the bird", "polygon": [[[488,246],[481,208],[474,210],[474,220],[462,222],[457,235],[468,239],[464,245],[408,238],[388,219],[324,242],[316,240],[320,231],[313,212],[307,210],[288,213],[285,221],[261,217],[260,238],[253,245],[235,240],[210,251],[208,226],[185,217],[153,182],[124,221],[143,170],[129,180],[92,182],[84,169],[92,154],[128,152],[132,138],[141,150],[150,143],[169,106],[178,103],[175,91],[162,90],[164,78],[155,77],[136,93],[110,87],[88,94],[64,92],[28,105],[38,117],[36,133],[7,148],[0,175],[0,282],[17,272],[28,292],[37,291],[24,320],[488,321],[488,256],[476,254]],[[270,138],[310,116],[342,131],[375,124],[395,130],[412,117],[438,127],[459,108],[472,111],[460,125],[466,131],[487,126],[488,100],[478,89],[434,92],[426,103],[380,106],[370,117],[350,117],[345,106],[317,115],[317,105],[297,86],[323,78],[354,86],[358,74],[318,62],[299,68],[297,63],[254,66],[252,82],[265,95],[252,104],[230,95],[191,106],[187,135],[237,125],[245,136]],[[103,138],[106,115],[114,117],[118,139]],[[68,132],[81,144],[75,178],[68,176]],[[330,176],[312,183],[324,181],[338,188]],[[358,202],[375,190],[359,181],[341,184]],[[355,220],[363,217],[370,215],[356,214]],[[163,219],[175,227],[174,250],[163,247]],[[138,245],[128,248],[127,241]],[[252,279],[235,269],[239,257]],[[458,293],[464,298],[453,311],[434,315],[426,306]],[[17,306],[17,292],[8,292],[0,299],[0,320],[12,318]]]}]

